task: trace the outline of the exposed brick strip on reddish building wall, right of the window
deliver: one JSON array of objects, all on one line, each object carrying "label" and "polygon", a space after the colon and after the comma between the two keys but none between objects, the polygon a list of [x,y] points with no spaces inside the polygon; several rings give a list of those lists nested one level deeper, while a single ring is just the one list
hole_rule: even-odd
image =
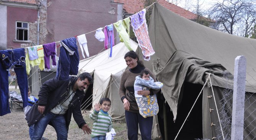
[{"label": "exposed brick strip on reddish building wall, right of the window", "polygon": [[47,11],[44,5],[40,6],[40,23],[39,23],[39,45],[43,45],[46,43],[46,18],[47,18]]}]

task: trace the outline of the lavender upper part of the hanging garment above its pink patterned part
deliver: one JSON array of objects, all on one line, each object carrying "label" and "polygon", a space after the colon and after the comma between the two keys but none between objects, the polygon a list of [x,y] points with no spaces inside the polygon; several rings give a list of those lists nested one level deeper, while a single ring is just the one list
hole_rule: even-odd
[{"label": "lavender upper part of the hanging garment above its pink patterned part", "polygon": [[131,15],[131,26],[133,26],[133,30],[139,29],[142,24],[146,23],[145,13],[146,10],[143,9],[138,13]]}]

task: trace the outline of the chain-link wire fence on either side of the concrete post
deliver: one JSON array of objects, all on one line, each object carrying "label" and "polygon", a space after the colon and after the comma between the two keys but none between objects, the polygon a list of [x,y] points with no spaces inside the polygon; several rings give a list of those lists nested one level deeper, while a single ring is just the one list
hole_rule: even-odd
[{"label": "chain-link wire fence on either side of the concrete post", "polygon": [[[215,140],[231,140],[232,135],[232,108],[233,108],[233,79],[229,79],[230,73],[225,73],[224,77],[226,85],[222,92],[222,99],[219,101],[221,108],[218,110],[220,114],[220,124],[224,132],[224,138],[220,132],[220,127],[217,127],[218,132]],[[245,108],[244,108],[244,125],[243,125],[243,140],[256,139],[256,71],[254,69],[246,72],[246,87],[245,87]],[[241,115],[241,114],[236,114]]]}]

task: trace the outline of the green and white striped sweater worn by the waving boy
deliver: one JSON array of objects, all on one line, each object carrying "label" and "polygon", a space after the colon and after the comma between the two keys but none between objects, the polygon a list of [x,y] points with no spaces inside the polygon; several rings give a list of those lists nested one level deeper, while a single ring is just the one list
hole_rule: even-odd
[{"label": "green and white striped sweater worn by the waving boy", "polygon": [[90,118],[93,121],[91,137],[96,137],[99,135],[106,135],[107,132],[110,132],[113,128],[112,126],[112,117],[108,113],[100,110],[99,112],[93,110],[90,114]]}]

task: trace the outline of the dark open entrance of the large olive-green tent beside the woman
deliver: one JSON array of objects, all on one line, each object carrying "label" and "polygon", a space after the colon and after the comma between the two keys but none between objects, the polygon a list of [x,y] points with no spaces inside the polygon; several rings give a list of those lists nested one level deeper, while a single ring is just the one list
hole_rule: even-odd
[{"label": "dark open entrance of the large olive-green tent beside the woman", "polygon": [[[203,85],[184,82],[183,97],[178,104],[179,107],[175,122],[173,122],[173,113],[171,112],[170,106],[168,103],[166,103],[166,105],[164,104],[164,96],[163,94],[159,94],[159,97],[157,97],[159,103],[159,113],[157,117],[162,140],[165,140],[163,108],[165,108],[167,118],[167,123],[165,123],[167,125],[167,139],[174,140],[202,88]],[[200,95],[176,140],[203,138],[202,100],[203,96]],[[163,105],[165,105],[165,107]]]}]

